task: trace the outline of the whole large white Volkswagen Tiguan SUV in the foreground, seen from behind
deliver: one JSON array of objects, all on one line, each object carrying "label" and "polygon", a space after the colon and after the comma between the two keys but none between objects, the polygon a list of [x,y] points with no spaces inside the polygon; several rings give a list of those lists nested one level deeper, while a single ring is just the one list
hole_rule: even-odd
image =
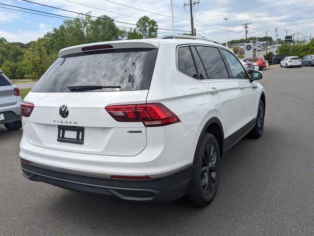
[{"label": "whole large white Volkswagen Tiguan SUV in the foreground, seen from behind", "polygon": [[220,157],[260,138],[262,73],[224,46],[183,35],[63,49],[22,104],[31,180],[123,200],[214,197]]}]

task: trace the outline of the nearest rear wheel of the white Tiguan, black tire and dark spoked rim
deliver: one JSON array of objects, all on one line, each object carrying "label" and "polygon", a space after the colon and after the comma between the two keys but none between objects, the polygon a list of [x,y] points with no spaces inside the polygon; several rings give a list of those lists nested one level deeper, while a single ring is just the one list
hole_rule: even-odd
[{"label": "nearest rear wheel of the white Tiguan, black tire and dark spoked rim", "polygon": [[220,151],[217,140],[205,133],[195,151],[193,173],[188,197],[198,207],[213,200],[219,183]]}]

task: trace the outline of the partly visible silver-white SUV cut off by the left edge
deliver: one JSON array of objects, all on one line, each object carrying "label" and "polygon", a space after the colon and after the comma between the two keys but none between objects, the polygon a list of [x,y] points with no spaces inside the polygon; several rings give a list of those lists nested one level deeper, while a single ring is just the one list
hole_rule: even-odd
[{"label": "partly visible silver-white SUV cut off by the left edge", "polygon": [[20,105],[23,102],[20,89],[0,70],[0,124],[8,130],[22,127]]}]

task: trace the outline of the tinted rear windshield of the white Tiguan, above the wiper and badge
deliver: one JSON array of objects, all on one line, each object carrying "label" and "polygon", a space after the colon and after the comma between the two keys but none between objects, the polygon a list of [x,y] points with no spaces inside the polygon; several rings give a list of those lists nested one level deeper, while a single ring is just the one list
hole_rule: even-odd
[{"label": "tinted rear windshield of the white Tiguan, above the wiper and badge", "polygon": [[91,91],[149,89],[157,49],[128,48],[82,52],[58,58],[32,92],[71,92],[68,86],[120,86]]}]

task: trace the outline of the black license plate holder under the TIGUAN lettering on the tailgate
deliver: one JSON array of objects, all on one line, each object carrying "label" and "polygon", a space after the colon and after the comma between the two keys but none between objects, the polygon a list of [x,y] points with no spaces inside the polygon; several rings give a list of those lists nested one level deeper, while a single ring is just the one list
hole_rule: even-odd
[{"label": "black license plate holder under the TIGUAN lettering on the tailgate", "polygon": [[70,144],[83,144],[84,127],[58,125],[57,141]]}]

